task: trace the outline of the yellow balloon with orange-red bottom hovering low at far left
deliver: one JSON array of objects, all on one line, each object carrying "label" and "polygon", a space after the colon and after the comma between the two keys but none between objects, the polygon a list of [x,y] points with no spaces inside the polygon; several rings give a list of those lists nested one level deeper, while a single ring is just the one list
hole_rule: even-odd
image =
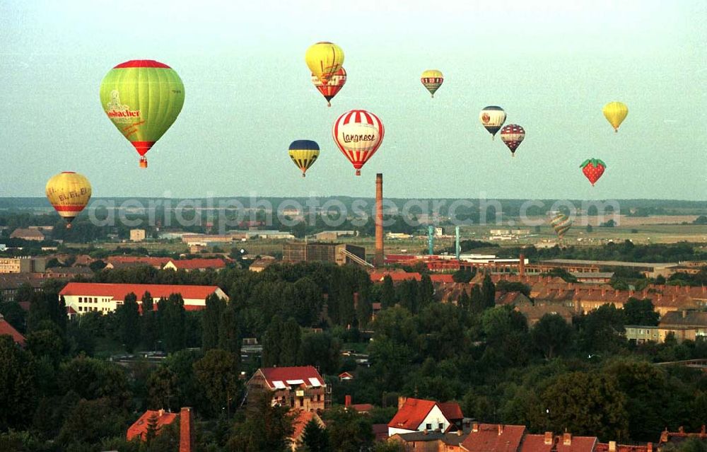
[{"label": "yellow balloon with orange-red bottom hovering low at far left", "polygon": [[52,207],[66,220],[66,228],[81,213],[90,199],[90,182],[81,174],[64,171],[54,175],[45,189]]}]

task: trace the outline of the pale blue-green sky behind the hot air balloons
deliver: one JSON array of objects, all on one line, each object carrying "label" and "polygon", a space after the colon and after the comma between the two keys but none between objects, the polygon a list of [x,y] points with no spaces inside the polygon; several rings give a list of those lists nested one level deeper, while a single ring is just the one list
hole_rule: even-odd
[{"label": "pale blue-green sky behind the hot air balloons", "polygon": [[[345,52],[332,108],[304,62],[322,40]],[[147,170],[98,96],[129,59],[185,85]],[[445,76],[434,99],[425,69]],[[383,173],[390,197],[706,200],[706,82],[703,0],[4,0],[0,197],[74,170],[94,197],[370,197]],[[618,134],[612,100],[629,106]],[[515,158],[481,127],[486,105],[525,128]],[[354,108],[385,124],[361,177],[331,132]],[[295,139],[322,149],[307,178]],[[592,157],[607,163],[595,187]]]}]

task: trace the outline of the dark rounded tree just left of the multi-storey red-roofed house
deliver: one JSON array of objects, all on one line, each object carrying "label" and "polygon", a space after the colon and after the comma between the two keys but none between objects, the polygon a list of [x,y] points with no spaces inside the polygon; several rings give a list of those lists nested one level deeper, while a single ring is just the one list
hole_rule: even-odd
[{"label": "dark rounded tree just left of the multi-storey red-roofed house", "polygon": [[211,412],[230,407],[238,395],[238,359],[225,350],[211,349],[194,363],[194,375],[211,402]]}]

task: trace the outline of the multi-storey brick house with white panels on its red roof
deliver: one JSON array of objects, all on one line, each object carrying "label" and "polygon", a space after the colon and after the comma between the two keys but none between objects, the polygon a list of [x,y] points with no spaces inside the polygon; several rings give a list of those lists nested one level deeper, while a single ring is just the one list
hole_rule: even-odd
[{"label": "multi-storey brick house with white panels on its red roof", "polygon": [[331,404],[331,391],[313,366],[262,367],[245,386],[248,393],[268,393],[272,405],[316,411]]}]

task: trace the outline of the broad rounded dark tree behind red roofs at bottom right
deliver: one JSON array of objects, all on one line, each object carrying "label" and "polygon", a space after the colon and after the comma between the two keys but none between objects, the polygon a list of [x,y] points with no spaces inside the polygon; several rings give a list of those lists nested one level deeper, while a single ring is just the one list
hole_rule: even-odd
[{"label": "broad rounded dark tree behind red roofs at bottom right", "polygon": [[548,421],[554,431],[596,435],[607,441],[628,437],[626,396],[615,378],[601,373],[571,372],[556,378],[544,391]]}]

